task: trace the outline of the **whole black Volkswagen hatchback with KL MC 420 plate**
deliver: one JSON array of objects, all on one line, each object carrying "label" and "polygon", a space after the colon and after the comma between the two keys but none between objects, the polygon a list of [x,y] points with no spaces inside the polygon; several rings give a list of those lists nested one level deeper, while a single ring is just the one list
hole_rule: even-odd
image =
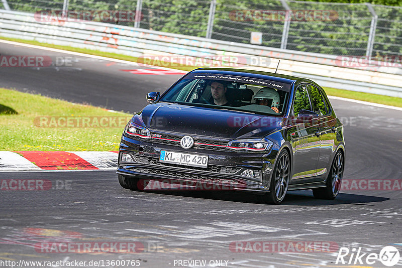
[{"label": "whole black Volkswagen hatchback with KL MC 420 plate", "polygon": [[275,204],[289,190],[313,189],[323,199],[340,191],[343,125],[309,79],[200,68],[147,100],[122,135],[117,173],[124,188],[207,183]]}]

